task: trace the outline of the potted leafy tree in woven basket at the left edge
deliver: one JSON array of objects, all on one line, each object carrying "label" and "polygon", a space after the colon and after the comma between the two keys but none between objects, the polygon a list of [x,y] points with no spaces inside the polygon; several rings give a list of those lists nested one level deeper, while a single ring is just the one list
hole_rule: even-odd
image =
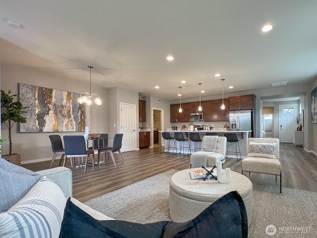
[{"label": "potted leafy tree in woven basket at the left edge", "polygon": [[6,159],[14,164],[21,164],[20,154],[12,154],[12,136],[11,129],[15,122],[26,123],[26,118],[22,114],[26,113],[24,107],[20,101],[15,101],[14,98],[16,94],[9,95],[11,90],[8,93],[5,93],[1,90],[1,124],[4,125],[9,130],[9,154],[2,156],[3,159]]}]

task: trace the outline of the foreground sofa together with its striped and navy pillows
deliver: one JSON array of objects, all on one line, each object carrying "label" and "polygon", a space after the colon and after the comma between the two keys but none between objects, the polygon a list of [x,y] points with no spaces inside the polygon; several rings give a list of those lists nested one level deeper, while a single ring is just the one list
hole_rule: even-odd
[{"label": "foreground sofa together with its striped and navy pillows", "polygon": [[[221,217],[223,213],[227,216]],[[209,234],[247,238],[247,213],[238,192],[226,194],[185,223],[116,221],[72,197],[72,173],[68,168],[35,173],[0,158],[0,237],[207,238]]]}]

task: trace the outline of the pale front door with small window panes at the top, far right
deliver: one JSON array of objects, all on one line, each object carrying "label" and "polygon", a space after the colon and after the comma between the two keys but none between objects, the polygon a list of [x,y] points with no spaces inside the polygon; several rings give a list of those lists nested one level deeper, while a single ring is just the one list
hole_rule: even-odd
[{"label": "pale front door with small window panes at the top, far right", "polygon": [[298,104],[279,105],[279,140],[282,143],[293,143],[293,130],[296,130],[295,119],[298,116]]}]

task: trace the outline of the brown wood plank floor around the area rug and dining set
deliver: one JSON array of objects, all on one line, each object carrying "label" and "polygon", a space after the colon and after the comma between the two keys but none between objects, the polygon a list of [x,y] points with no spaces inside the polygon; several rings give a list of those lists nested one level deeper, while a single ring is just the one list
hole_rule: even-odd
[{"label": "brown wood plank floor around the area rug and dining set", "polygon": [[[121,163],[119,155],[115,154],[117,166],[114,167],[111,158],[107,163],[101,163],[100,167],[87,168],[79,166],[72,169],[73,196],[81,202],[101,196],[105,193],[125,187],[129,184],[147,179],[151,176],[170,169],[184,170],[190,168],[190,157],[183,155],[159,154],[159,144],[154,148],[145,148],[138,151],[122,153],[124,163]],[[280,160],[282,165],[282,187],[296,188],[300,190],[317,192],[317,156],[307,153],[303,147],[295,147],[293,144],[280,144]],[[23,167],[39,171],[48,169],[51,161],[22,165]],[[53,167],[58,166],[58,160]],[[70,164],[66,165],[70,168]],[[241,160],[227,158],[224,168],[241,174]],[[249,178],[249,173],[244,172]],[[250,180],[255,183],[279,186],[279,178],[275,176],[251,173]],[[283,191],[282,191],[283,192]]]}]

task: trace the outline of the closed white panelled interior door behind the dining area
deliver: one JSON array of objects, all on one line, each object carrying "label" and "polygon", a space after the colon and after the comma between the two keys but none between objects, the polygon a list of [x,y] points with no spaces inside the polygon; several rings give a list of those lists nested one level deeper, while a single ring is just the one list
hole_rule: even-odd
[{"label": "closed white panelled interior door behind the dining area", "polygon": [[120,103],[120,127],[123,133],[121,152],[136,150],[136,105]]}]

